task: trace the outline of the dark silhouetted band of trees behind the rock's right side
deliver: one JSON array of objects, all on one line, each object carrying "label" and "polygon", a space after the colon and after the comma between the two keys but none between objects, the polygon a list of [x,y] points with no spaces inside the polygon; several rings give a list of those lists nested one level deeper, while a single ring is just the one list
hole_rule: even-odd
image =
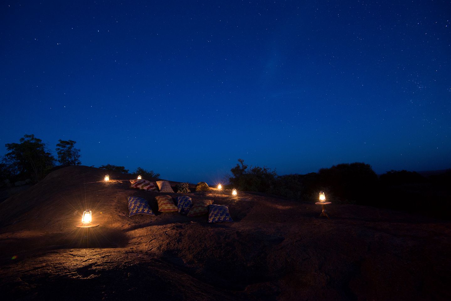
[{"label": "dark silhouetted band of trees behind the rock's right side", "polygon": [[267,167],[249,167],[239,159],[228,177],[230,188],[271,193],[299,201],[318,201],[320,191],[337,204],[371,205],[448,218],[451,169],[423,177],[406,170],[380,176],[369,164],[337,164],[318,173],[277,175]]}]

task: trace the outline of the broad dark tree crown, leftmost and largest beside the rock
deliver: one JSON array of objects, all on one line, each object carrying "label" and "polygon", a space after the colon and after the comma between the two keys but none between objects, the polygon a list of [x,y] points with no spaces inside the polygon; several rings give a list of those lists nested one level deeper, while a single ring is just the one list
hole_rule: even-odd
[{"label": "broad dark tree crown, leftmost and largest beside the rock", "polygon": [[46,149],[46,144],[34,135],[24,135],[19,141],[5,144],[9,151],[3,160],[5,169],[12,175],[40,180],[54,166],[55,158]]}]

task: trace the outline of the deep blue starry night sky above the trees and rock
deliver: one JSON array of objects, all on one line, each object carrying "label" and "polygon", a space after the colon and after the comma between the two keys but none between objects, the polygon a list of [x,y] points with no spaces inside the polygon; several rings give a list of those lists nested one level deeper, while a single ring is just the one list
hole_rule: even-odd
[{"label": "deep blue starry night sky above the trees and rock", "polygon": [[[0,155],[215,183],[451,167],[450,1],[2,1]],[[56,155],[56,154],[55,154]]]}]

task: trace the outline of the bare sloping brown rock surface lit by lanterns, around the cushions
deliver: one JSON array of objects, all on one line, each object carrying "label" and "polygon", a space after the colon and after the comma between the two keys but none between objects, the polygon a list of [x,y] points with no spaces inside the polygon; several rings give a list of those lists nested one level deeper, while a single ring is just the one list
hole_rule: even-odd
[{"label": "bare sloping brown rock surface lit by lanterns, around the cushions", "polygon": [[[318,205],[270,195],[184,194],[229,206],[234,223],[208,224],[158,213],[157,192],[104,173],[59,169],[0,204],[6,300],[451,299],[450,222],[334,204],[319,219]],[[127,196],[157,215],[129,217]],[[88,242],[75,228],[87,208],[100,223]]]}]

